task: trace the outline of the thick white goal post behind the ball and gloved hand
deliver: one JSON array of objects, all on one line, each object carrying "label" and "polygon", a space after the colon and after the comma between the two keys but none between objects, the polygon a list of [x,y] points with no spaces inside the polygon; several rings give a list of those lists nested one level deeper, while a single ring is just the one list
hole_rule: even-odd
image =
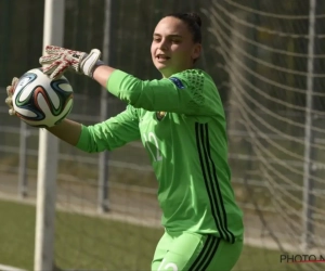
[{"label": "thick white goal post behind the ball and gloved hand", "polygon": [[[65,0],[46,0],[43,48],[62,46]],[[46,129],[39,131],[35,270],[52,270],[54,262],[54,222],[58,140]]]}]

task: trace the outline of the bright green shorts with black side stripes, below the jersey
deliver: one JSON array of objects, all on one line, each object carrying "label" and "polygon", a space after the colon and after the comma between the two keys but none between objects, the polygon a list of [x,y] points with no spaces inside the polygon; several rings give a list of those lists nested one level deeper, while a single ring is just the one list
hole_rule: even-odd
[{"label": "bright green shorts with black side stripes, below the jersey", "polygon": [[152,271],[229,271],[242,249],[243,241],[230,244],[213,235],[165,232],[157,245]]}]

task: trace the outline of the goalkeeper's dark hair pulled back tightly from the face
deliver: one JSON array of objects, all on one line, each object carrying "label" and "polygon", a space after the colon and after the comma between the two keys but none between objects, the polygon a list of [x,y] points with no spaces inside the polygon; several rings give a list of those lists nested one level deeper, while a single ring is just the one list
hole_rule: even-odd
[{"label": "goalkeeper's dark hair pulled back tightly from the face", "polygon": [[197,13],[177,12],[177,13],[170,13],[166,17],[177,17],[183,21],[187,25],[190,31],[193,35],[193,41],[202,43],[202,33],[200,33],[202,20]]}]

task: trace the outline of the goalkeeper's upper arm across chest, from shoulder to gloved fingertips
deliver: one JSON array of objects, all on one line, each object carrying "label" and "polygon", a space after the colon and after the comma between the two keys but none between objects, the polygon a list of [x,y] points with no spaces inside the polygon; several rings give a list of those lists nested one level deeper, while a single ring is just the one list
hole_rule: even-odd
[{"label": "goalkeeper's upper arm across chest, from shoulder to gloved fingertips", "polygon": [[60,77],[65,70],[84,74],[120,100],[138,108],[166,111],[188,115],[216,113],[220,102],[217,89],[205,83],[205,76],[198,70],[182,77],[143,81],[121,70],[106,66],[100,61],[101,52],[91,50],[89,54],[60,47],[46,48],[47,55],[40,57],[43,73],[51,78]]}]

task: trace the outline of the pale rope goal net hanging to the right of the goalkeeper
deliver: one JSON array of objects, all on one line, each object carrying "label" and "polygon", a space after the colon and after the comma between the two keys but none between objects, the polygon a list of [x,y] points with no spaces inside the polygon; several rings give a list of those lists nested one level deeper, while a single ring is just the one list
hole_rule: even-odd
[{"label": "pale rope goal net hanging to the right of the goalkeeper", "polygon": [[320,257],[325,245],[324,3],[222,0],[204,12],[217,40],[210,46],[226,74],[221,86],[229,91],[230,159],[246,241],[265,251]]}]

